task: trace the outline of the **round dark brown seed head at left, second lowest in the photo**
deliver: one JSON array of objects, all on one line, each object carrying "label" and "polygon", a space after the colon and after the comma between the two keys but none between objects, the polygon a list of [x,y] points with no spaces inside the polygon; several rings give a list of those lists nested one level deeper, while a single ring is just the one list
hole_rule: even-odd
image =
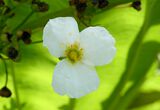
[{"label": "round dark brown seed head at left, second lowest in the photo", "polygon": [[15,60],[18,57],[18,50],[14,47],[9,47],[7,55],[10,59]]}]

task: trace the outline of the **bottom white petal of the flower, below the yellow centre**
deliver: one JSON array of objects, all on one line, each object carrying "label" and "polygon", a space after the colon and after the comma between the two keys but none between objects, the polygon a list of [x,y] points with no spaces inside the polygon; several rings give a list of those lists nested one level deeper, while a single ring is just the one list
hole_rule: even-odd
[{"label": "bottom white petal of the flower, below the yellow centre", "polygon": [[79,98],[96,90],[99,78],[93,67],[68,60],[59,62],[54,70],[52,86],[60,95]]}]

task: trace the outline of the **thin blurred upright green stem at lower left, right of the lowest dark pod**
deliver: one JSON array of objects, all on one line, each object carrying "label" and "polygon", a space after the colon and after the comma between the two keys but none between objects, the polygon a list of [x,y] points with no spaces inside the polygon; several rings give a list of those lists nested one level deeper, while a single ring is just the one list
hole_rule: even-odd
[{"label": "thin blurred upright green stem at lower left, right of the lowest dark pod", "polygon": [[18,94],[18,87],[17,87],[17,83],[16,83],[16,76],[15,76],[15,70],[14,70],[14,65],[13,62],[11,61],[11,75],[12,75],[12,80],[13,80],[13,87],[14,87],[14,91],[15,91],[15,96],[16,96],[16,104],[17,104],[17,108],[18,110],[21,110],[20,107],[20,100],[19,100],[19,94]]}]

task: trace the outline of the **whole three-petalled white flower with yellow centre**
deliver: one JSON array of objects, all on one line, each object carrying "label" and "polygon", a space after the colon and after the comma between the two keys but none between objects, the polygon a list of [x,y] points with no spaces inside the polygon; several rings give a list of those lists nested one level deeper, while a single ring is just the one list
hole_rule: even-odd
[{"label": "whole three-petalled white flower with yellow centre", "polygon": [[99,85],[94,66],[112,61],[116,49],[114,38],[104,27],[88,27],[79,32],[72,17],[50,19],[43,30],[43,45],[60,61],[52,86],[60,95],[79,98]]}]

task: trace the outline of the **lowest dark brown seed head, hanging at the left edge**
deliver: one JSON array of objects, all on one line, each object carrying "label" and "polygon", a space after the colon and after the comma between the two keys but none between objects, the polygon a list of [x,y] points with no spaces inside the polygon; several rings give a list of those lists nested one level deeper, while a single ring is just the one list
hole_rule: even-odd
[{"label": "lowest dark brown seed head, hanging at the left edge", "polygon": [[12,92],[4,86],[3,88],[0,89],[0,96],[1,97],[10,97],[12,95]]}]

